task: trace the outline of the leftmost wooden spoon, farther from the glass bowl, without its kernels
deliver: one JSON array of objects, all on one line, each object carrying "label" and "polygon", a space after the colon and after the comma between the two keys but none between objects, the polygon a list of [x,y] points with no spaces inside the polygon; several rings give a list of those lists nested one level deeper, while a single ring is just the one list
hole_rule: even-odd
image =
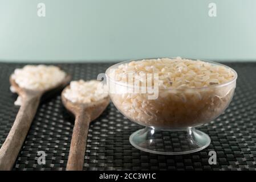
[{"label": "leftmost wooden spoon, farther from the glass bowl, without its kernels", "polygon": [[38,108],[40,98],[48,91],[64,88],[70,82],[71,76],[67,75],[62,82],[45,90],[30,90],[19,87],[10,76],[10,84],[20,97],[22,104],[11,130],[0,149],[0,170],[11,170],[21,150],[22,144],[29,131],[32,120]]}]

